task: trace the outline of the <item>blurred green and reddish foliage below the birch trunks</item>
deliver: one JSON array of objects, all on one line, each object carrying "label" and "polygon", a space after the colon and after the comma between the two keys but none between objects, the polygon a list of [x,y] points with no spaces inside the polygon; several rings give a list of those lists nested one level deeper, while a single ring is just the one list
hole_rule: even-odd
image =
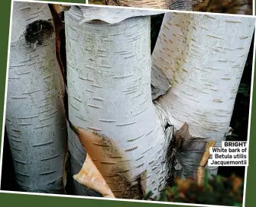
[{"label": "blurred green and reddish foliage below the birch trunks", "polygon": [[241,206],[244,184],[241,178],[208,176],[205,171],[203,186],[198,186],[196,180],[177,179],[175,185],[166,188],[159,198],[151,198],[148,193],[144,199],[164,202],[187,202],[208,205]]}]

